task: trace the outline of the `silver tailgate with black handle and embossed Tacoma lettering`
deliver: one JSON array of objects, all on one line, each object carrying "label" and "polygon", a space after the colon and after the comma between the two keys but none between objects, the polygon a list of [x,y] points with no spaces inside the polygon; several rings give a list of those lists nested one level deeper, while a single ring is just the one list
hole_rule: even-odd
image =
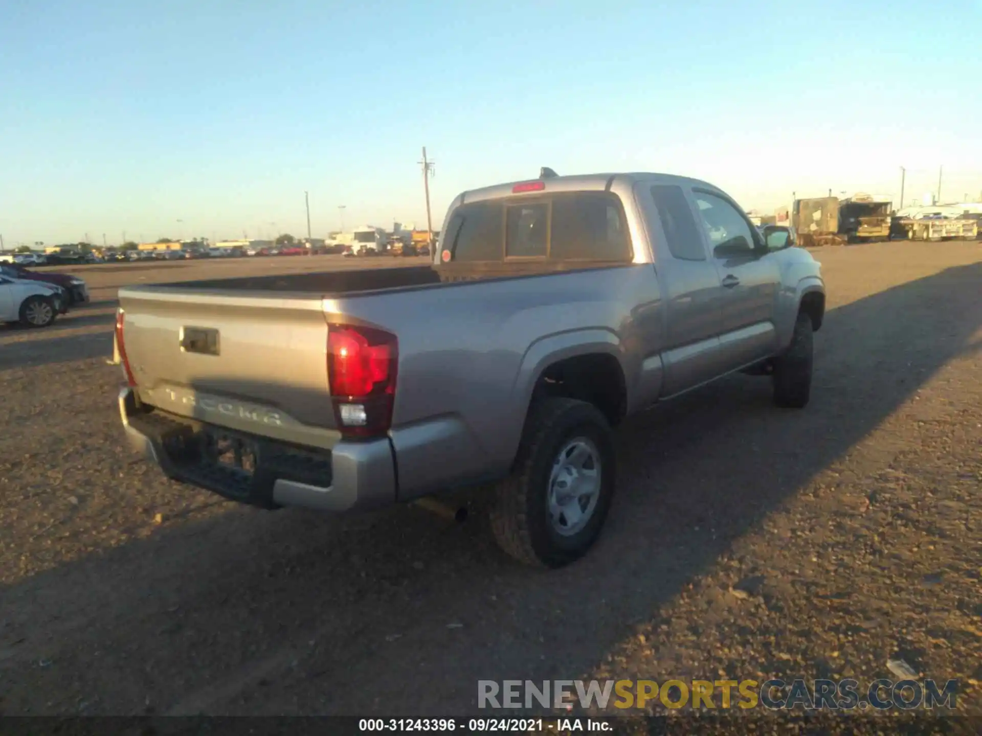
[{"label": "silver tailgate with black handle and embossed Tacoma lettering", "polygon": [[339,438],[319,294],[120,290],[141,402],[312,447]]}]

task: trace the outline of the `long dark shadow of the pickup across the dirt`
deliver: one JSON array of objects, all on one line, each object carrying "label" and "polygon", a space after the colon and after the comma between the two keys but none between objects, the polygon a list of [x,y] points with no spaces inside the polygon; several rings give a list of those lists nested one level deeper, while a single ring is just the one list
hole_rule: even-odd
[{"label": "long dark shadow of the pickup across the dirt", "polygon": [[7,712],[57,694],[48,711],[97,697],[92,712],[463,714],[478,679],[579,677],[976,351],[980,283],[982,264],[955,267],[831,310],[803,411],[736,376],[628,420],[608,528],[562,570],[513,564],[479,514],[453,525],[408,508],[230,504],[9,585]]}]

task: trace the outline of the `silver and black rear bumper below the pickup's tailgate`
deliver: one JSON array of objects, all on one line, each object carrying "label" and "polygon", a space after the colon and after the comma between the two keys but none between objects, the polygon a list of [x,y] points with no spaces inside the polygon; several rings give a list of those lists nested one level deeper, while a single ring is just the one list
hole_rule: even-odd
[{"label": "silver and black rear bumper below the pickup's tailgate", "polygon": [[[199,444],[211,428],[201,422],[137,406],[133,389],[119,394],[127,439],[174,480],[263,508],[302,506],[323,511],[377,508],[396,501],[396,471],[388,438],[338,443],[331,450],[300,448],[254,435],[251,473],[208,463]],[[223,430],[224,433],[224,430]]]}]

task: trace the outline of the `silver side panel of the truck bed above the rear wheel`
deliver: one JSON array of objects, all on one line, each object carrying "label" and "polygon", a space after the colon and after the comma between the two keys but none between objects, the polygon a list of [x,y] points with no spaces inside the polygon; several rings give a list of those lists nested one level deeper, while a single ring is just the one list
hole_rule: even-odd
[{"label": "silver side panel of the truck bed above the rear wheel", "polygon": [[[657,375],[641,367],[659,345],[642,326],[660,318],[660,301],[651,266],[641,264],[326,299],[324,311],[328,322],[399,335],[393,435],[438,422],[448,457],[482,477],[511,466],[535,381],[557,360],[609,352],[624,368],[628,404],[636,393],[650,395],[646,382]],[[443,472],[431,457],[417,465],[407,454],[408,466],[428,467],[410,474],[398,454],[401,490]]]}]

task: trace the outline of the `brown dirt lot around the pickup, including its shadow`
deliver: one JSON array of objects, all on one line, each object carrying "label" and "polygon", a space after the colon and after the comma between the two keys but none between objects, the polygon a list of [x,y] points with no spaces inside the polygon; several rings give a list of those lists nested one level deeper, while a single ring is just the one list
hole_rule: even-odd
[{"label": "brown dirt lot around the pickup, including its shadow", "polygon": [[980,246],[815,255],[808,408],[739,376],[628,421],[608,528],[552,573],[480,513],[259,511],[123,446],[116,289],[361,261],[77,269],[92,306],[0,328],[0,712],[464,714],[478,679],[867,683],[890,657],[982,711]]}]

